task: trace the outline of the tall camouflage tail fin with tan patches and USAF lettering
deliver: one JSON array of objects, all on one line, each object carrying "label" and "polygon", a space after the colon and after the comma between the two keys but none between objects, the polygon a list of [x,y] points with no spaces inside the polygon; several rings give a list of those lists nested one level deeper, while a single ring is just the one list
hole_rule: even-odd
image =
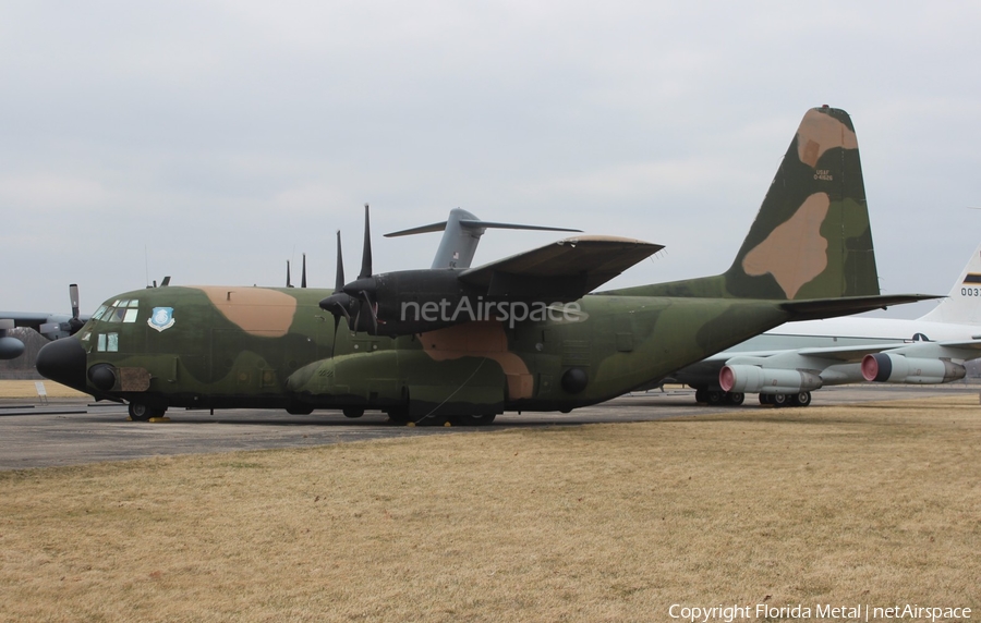
[{"label": "tall camouflage tail fin with tan patches and USAF lettering", "polygon": [[726,272],[629,291],[782,301],[877,295],[862,168],[848,113],[823,107],[804,114]]}]

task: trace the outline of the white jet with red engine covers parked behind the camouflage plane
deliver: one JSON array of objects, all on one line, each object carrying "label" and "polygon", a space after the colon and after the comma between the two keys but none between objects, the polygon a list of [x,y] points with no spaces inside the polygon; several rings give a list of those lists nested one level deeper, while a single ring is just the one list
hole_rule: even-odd
[{"label": "white jet with red engine covers parked behind the camouflage plane", "polygon": [[824,386],[880,381],[931,384],[965,376],[981,357],[981,246],[950,294],[915,320],[843,317],[788,322],[678,370],[667,382],[708,404],[807,406]]}]

